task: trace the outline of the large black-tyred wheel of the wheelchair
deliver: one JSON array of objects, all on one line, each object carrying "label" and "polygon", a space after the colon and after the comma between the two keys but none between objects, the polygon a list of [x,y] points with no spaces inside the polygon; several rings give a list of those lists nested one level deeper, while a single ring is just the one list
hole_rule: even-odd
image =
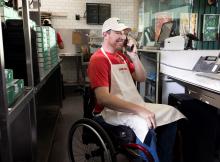
[{"label": "large black-tyred wheel of the wheelchair", "polygon": [[80,119],[70,129],[68,153],[72,162],[115,162],[114,146],[103,128],[91,119]]}]

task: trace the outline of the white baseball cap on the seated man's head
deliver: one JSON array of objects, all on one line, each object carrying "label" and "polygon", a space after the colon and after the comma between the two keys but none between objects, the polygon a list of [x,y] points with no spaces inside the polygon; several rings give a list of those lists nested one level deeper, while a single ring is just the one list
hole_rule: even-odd
[{"label": "white baseball cap on the seated man's head", "polygon": [[131,30],[128,26],[126,26],[124,23],[120,21],[117,17],[112,17],[107,19],[103,26],[102,26],[102,33],[108,31],[108,30],[114,30],[114,31],[122,31],[125,29]]}]

